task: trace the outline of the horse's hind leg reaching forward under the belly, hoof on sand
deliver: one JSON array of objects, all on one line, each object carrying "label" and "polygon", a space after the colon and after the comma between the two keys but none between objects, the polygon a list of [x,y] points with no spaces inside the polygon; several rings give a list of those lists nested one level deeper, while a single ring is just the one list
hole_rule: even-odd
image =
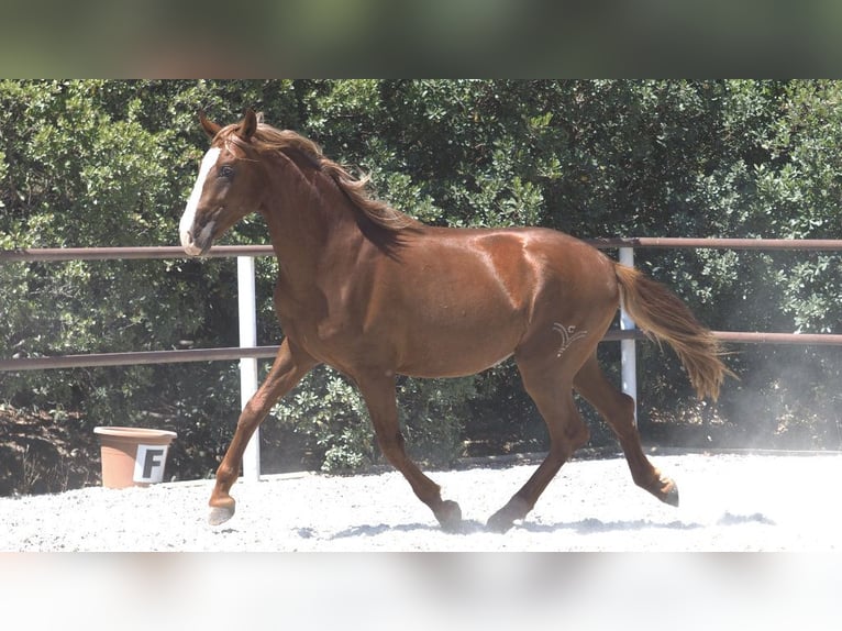
[{"label": "horse's hind leg reaching forward under the belly, hoof on sand", "polygon": [[576,409],[569,376],[565,377],[562,374],[560,377],[557,368],[534,368],[522,358],[518,361],[518,367],[527,392],[546,423],[550,451],[527,484],[488,519],[487,528],[496,532],[506,532],[516,520],[523,519],[562,465],[590,438],[588,428]]}]

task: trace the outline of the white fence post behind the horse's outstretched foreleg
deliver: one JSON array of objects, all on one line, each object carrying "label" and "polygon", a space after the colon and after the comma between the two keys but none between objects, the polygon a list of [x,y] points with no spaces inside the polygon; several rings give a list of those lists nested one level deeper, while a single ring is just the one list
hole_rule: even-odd
[{"label": "white fence post behind the horse's outstretched foreleg", "polygon": [[[257,306],[254,291],[254,258],[236,257],[236,287],[240,308],[240,347],[257,345]],[[257,391],[257,359],[240,359],[240,403],[242,408]],[[243,454],[243,478],[261,479],[261,429],[254,431]]]}]

